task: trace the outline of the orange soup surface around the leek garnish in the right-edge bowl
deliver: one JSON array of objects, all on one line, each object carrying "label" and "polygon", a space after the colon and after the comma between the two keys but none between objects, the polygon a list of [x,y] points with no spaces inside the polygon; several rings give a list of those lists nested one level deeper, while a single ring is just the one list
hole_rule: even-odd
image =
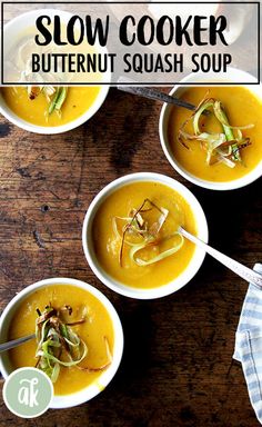
[{"label": "orange soup surface around the leek garnish in the right-edge bowl", "polygon": [[[183,143],[179,141],[181,126],[191,117],[192,112],[177,107],[172,108],[168,123],[168,138],[174,158],[188,172],[204,180],[223,182],[241,178],[262,160],[262,100],[244,87],[192,87],[183,92],[181,99],[199,106],[205,96],[221,101],[231,126],[250,126],[248,129],[241,129],[243,143],[240,149],[236,149],[241,161],[233,163],[232,156],[228,156],[226,160],[220,157],[219,161],[211,158],[211,161],[208,162],[205,141],[193,138],[188,138],[188,140],[185,138]],[[205,135],[206,132],[220,135],[223,132],[223,127],[213,113],[202,115],[199,123],[200,132]],[[192,120],[185,125],[183,130],[190,136],[194,133]],[[231,139],[239,138],[239,130],[231,129],[231,131],[233,132]],[[224,147],[223,151],[220,152],[224,153],[229,149],[229,141],[224,141],[220,149],[222,147]]]}]

